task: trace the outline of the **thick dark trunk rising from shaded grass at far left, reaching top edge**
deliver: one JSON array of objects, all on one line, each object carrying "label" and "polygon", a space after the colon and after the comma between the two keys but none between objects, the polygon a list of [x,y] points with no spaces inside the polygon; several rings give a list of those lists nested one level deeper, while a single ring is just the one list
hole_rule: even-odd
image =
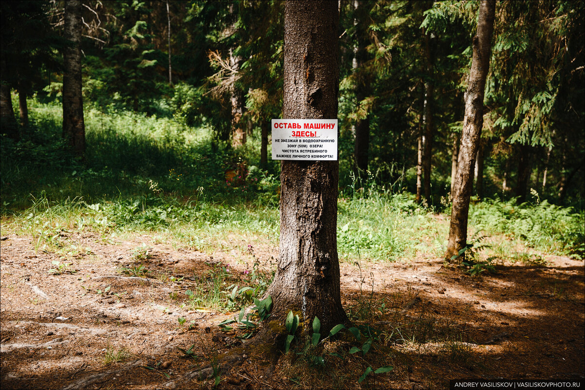
[{"label": "thick dark trunk rising from shaded grass at far left, reaching top edge", "polygon": [[81,1],[65,2],[64,38],[70,44],[63,49],[63,137],[78,156],[85,153],[81,95],[81,7]]}]

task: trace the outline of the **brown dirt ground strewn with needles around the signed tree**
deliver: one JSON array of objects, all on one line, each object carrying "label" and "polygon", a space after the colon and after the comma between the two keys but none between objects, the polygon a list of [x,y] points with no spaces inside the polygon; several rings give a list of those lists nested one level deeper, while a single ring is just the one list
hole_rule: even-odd
[{"label": "brown dirt ground strewn with needles around the signed tree", "polygon": [[[2,388],[212,388],[213,378],[187,374],[218,351],[229,350],[233,339],[217,324],[237,313],[181,308],[184,293],[218,265],[238,280],[250,270],[252,258],[233,250],[176,250],[152,236],[108,242],[82,232],[68,238],[90,249],[68,261],[74,273],[54,274],[51,261],[63,262],[60,255],[35,252],[31,236],[2,232]],[[158,277],[119,273],[136,263],[132,250],[141,243],[152,250],[140,263]],[[271,256],[277,256],[274,248],[257,248],[264,267],[271,266]],[[370,299],[376,307],[384,303],[374,324],[378,329],[395,330],[396,321],[432,317],[457,329],[453,334],[459,338],[453,343],[460,344],[449,344],[388,337],[387,347],[401,358],[394,359],[393,371],[368,386],[448,388],[449,379],[456,378],[583,379],[584,264],[568,257],[545,259],[546,266],[503,264],[498,273],[481,277],[445,269],[439,258],[363,262],[360,267],[342,261],[342,302],[348,311]],[[180,317],[186,319],[183,326]],[[197,325],[188,329],[192,322]],[[201,361],[181,357],[177,347],[191,345]],[[449,345],[465,346],[467,355],[446,359]],[[281,359],[269,374],[262,363],[244,358],[218,387],[301,386],[286,376],[287,361]],[[340,384],[359,388],[359,375]]]}]

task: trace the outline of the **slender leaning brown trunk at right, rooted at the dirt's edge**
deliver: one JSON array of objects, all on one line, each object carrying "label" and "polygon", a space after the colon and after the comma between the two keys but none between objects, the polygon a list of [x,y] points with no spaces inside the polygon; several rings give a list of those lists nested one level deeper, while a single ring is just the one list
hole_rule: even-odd
[{"label": "slender leaning brown trunk at right, rooted at the dirt's edge", "polygon": [[[445,257],[452,261],[467,245],[467,217],[472,192],[474,157],[477,154],[483,127],[483,97],[490,67],[490,41],[494,29],[495,0],[483,0],[479,6],[477,33],[473,37],[473,59],[469,85],[465,93],[465,117],[457,159],[455,196],[451,210],[449,243]],[[455,259],[453,258],[453,259]],[[464,253],[463,253],[464,258]]]}]

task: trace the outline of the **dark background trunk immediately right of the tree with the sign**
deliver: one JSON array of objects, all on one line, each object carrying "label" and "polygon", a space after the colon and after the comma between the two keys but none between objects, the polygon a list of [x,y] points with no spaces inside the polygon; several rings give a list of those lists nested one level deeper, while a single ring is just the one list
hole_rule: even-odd
[{"label": "dark background trunk immediately right of the tree with the sign", "polygon": [[[370,93],[369,81],[366,72],[363,69],[367,61],[367,29],[369,27],[369,19],[367,19],[368,11],[364,1],[356,1],[356,15],[357,15],[357,50],[356,50],[356,68],[357,68],[357,83],[356,83],[356,100],[359,105]],[[368,166],[368,148],[370,147],[370,116],[366,114],[363,119],[358,119],[356,122],[356,141],[354,146],[354,155],[356,159],[356,168],[358,169],[359,177],[367,177]],[[362,176],[363,175],[363,176]]]}]

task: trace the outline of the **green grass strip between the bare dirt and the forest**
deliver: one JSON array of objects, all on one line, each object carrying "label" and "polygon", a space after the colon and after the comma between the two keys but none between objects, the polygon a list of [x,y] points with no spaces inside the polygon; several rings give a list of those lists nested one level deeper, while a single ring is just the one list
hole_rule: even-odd
[{"label": "green grass strip between the bare dirt and the forest", "polygon": [[[202,251],[247,245],[278,248],[278,169],[254,165],[257,140],[237,152],[212,142],[206,128],[130,112],[88,108],[87,159],[76,161],[61,138],[61,106],[30,100],[20,142],[1,143],[2,229],[32,235],[35,249],[71,252],[68,233],[89,229],[104,241],[153,233],[176,246]],[[34,158],[31,158],[34,156]],[[225,170],[245,162],[239,186]],[[448,218],[418,206],[408,193],[349,186],[338,203],[341,260],[376,262],[441,257]],[[491,236],[502,260],[541,262],[546,254],[583,255],[583,212],[542,203],[486,200],[470,210],[470,236]],[[507,247],[514,240],[517,256]],[[499,246],[499,248],[498,248]],[[510,245],[511,247],[511,245]],[[522,253],[521,253],[522,252]],[[507,256],[506,259],[503,257]],[[515,259],[513,258],[515,256]]]}]

